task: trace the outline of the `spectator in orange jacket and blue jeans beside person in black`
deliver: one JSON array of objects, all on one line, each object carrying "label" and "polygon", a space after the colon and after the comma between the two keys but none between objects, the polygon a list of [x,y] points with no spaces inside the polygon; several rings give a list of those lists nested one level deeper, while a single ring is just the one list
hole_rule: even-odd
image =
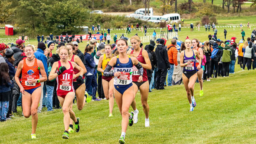
[{"label": "spectator in orange jacket and blue jeans beside person in black", "polygon": [[174,65],[175,65],[175,69],[177,69],[177,53],[178,50],[176,48],[176,39],[172,39],[171,41],[171,45],[167,46],[167,53],[168,53],[168,59],[169,59],[169,64],[171,66],[171,68],[168,70],[168,77],[167,77],[167,83],[168,86],[172,86],[172,74],[173,74],[173,69],[174,69]]}]

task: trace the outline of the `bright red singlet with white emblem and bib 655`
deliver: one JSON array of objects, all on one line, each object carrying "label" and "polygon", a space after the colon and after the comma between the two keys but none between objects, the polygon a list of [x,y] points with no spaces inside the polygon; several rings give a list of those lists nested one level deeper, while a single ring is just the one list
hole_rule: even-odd
[{"label": "bright red singlet with white emblem and bib 655", "polygon": [[[60,75],[58,75],[57,80],[57,95],[65,98],[67,93],[69,92],[75,92],[73,87],[73,66],[70,61],[70,69],[64,70]],[[58,61],[58,69],[61,67],[61,61]],[[58,70],[57,70],[58,71]]]}]

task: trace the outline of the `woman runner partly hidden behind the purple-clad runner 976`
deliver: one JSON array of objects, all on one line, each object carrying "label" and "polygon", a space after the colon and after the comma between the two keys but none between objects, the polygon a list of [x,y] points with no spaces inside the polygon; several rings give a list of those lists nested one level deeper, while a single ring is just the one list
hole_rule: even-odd
[{"label": "woman runner partly hidden behind the purple-clad runner 976", "polygon": [[[195,39],[195,38],[192,39],[192,46],[193,46],[194,50],[199,52],[201,60],[204,59],[203,49],[201,49],[201,47],[199,45],[199,42],[198,42],[198,39]],[[199,59],[197,57],[195,59],[196,59],[195,66],[197,67],[199,65]],[[201,63],[202,63],[202,61],[201,61]],[[201,66],[201,69],[196,69],[196,72],[197,72],[198,81],[199,81],[199,84],[200,84],[200,96],[203,96],[204,95],[204,90],[203,90],[204,81],[202,79],[202,76],[203,76],[204,70],[202,69],[202,66]]]}]

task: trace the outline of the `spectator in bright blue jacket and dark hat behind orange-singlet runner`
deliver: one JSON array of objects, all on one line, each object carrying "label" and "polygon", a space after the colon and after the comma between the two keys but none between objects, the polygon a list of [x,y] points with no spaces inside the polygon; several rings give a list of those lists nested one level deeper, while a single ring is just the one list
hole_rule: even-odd
[{"label": "spectator in bright blue jacket and dark hat behind orange-singlet runner", "polygon": [[[47,74],[48,77],[48,66],[47,66],[47,57],[44,55],[44,50],[46,49],[46,46],[44,43],[38,43],[38,50],[34,53],[35,58],[37,58],[38,60],[41,60],[42,63],[44,64],[44,70]],[[40,75],[41,76],[41,75]],[[44,87],[44,83],[41,83],[41,88],[43,89]],[[43,90],[41,91],[41,99],[40,99],[40,105],[38,107],[38,112],[40,113],[42,110],[42,102],[43,102]]]}]

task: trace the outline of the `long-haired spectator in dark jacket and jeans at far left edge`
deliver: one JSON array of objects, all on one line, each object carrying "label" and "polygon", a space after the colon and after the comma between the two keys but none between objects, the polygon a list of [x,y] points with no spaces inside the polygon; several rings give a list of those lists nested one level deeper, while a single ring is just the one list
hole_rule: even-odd
[{"label": "long-haired spectator in dark jacket and jeans at far left edge", "polygon": [[12,97],[12,81],[9,78],[7,63],[0,63],[0,121],[6,121],[9,110],[9,98]]}]

